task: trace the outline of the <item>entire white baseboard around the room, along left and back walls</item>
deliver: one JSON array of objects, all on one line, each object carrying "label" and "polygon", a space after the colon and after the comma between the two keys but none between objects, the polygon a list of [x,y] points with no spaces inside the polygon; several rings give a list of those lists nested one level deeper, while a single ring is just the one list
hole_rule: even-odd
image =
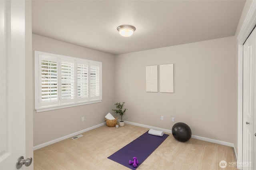
[{"label": "entire white baseboard around the room, along left and back walls", "polygon": [[[167,132],[167,133],[172,133],[172,130],[165,129],[165,128],[152,127],[152,126],[143,125],[143,124],[140,124],[140,123],[128,122],[128,121],[125,121],[125,123],[130,124],[130,125],[135,125],[135,126],[138,126],[138,127],[145,127],[145,128],[155,129],[155,130],[161,130],[161,131]],[[99,125],[95,125],[95,126],[90,127],[90,128],[86,128],[86,129],[84,129],[84,130],[80,130],[80,131],[78,131],[78,132],[74,132],[74,133],[72,133],[72,134],[63,136],[63,137],[58,138],[58,139],[51,140],[51,141],[49,141],[49,142],[45,142],[45,143],[43,143],[43,144],[39,144],[39,145],[37,145],[37,146],[34,146],[34,150],[43,148],[43,147],[45,147],[45,146],[48,146],[48,145],[50,145],[50,144],[54,144],[54,143],[56,143],[56,142],[60,142],[61,140],[64,140],[64,139],[67,139],[67,138],[71,138],[71,137],[76,136],[76,135],[78,135],[78,134],[87,132],[87,131],[89,131],[89,130],[92,130],[92,129],[94,129],[94,128],[98,128],[98,127],[101,127],[101,126],[104,126],[104,125],[106,125],[106,122],[105,122],[105,123],[101,123],[101,124],[99,124]],[[215,139],[211,139],[211,138],[205,138],[205,137],[201,137],[201,136],[196,136],[196,135],[193,135],[193,134],[192,134],[191,137],[192,137],[192,138],[195,138],[195,139],[199,139],[199,140],[204,140],[204,141],[207,141],[207,142],[212,142],[212,143],[216,143],[216,144],[222,144],[222,145],[225,145],[225,146],[233,147],[233,148],[234,148],[234,152],[235,152],[235,154],[236,154],[236,148],[235,148],[235,146],[234,146],[233,143],[224,142],[224,141],[221,141],[221,140],[215,140]],[[236,158],[237,158],[237,154],[236,154]]]}]

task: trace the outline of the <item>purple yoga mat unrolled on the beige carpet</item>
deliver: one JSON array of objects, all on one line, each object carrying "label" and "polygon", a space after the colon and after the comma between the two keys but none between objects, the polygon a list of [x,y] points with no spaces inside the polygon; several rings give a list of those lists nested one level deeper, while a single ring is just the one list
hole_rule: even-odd
[{"label": "purple yoga mat unrolled on the beige carpet", "polygon": [[[169,134],[164,134],[162,137],[154,136],[152,134],[148,134],[147,131],[134,141],[116,151],[114,154],[110,155],[108,159],[114,160],[119,164],[135,170],[162,142],[164,142],[168,136]],[[129,164],[129,160],[132,160],[134,156],[137,157],[139,162],[137,167],[133,167],[132,164]]]}]

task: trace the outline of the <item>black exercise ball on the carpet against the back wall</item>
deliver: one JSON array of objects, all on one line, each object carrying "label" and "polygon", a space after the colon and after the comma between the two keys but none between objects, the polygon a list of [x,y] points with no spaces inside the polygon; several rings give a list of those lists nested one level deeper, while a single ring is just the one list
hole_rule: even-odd
[{"label": "black exercise ball on the carpet against the back wall", "polygon": [[186,142],[191,138],[192,132],[186,123],[175,123],[172,127],[172,135],[180,142]]}]

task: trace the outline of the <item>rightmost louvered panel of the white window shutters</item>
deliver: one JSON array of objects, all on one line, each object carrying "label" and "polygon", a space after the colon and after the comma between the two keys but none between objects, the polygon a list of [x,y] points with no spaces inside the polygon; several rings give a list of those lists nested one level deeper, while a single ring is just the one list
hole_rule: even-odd
[{"label": "rightmost louvered panel of the white window shutters", "polygon": [[90,64],[90,99],[100,98],[100,65]]}]

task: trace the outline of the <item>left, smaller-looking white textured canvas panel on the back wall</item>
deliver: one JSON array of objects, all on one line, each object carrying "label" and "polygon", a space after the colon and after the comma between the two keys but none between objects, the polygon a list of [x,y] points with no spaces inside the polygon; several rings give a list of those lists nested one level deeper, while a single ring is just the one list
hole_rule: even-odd
[{"label": "left, smaller-looking white textured canvas panel on the back wall", "polygon": [[158,92],[158,67],[146,66],[146,92]]}]

